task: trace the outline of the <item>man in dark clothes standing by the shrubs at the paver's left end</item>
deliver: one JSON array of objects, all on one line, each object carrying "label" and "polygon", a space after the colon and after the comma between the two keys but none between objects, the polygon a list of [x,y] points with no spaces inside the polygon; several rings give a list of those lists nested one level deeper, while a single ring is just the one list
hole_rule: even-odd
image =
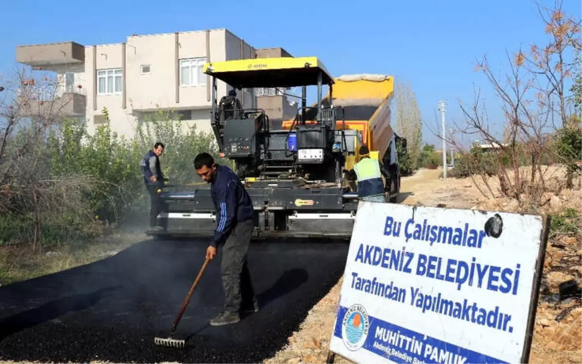
[{"label": "man in dark clothes standing by the shrubs at the paver's left end", "polygon": [[157,217],[161,210],[158,190],[164,188],[164,174],[159,164],[159,156],[164,152],[165,146],[161,142],[154,144],[154,148],[147,152],[141,160],[141,169],[144,175],[144,184],[150,193],[150,230],[161,230],[157,224]]}]

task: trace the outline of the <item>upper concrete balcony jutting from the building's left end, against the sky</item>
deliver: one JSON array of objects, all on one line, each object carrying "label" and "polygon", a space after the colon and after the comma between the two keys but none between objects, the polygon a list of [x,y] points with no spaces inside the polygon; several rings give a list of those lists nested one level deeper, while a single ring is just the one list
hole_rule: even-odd
[{"label": "upper concrete balcony jutting from the building's left end, against the sky", "polygon": [[75,42],[19,45],[16,47],[16,62],[47,69],[82,65],[85,62],[85,47]]}]

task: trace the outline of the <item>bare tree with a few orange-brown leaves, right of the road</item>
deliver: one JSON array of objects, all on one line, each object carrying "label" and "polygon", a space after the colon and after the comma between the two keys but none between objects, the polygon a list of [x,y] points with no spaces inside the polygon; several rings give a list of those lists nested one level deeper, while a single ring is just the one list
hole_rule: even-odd
[{"label": "bare tree with a few orange-brown leaves, right of the road", "polygon": [[[508,53],[510,67],[505,76],[495,76],[487,57],[478,61],[477,69],[485,75],[502,103],[503,135],[492,133],[478,95],[471,108],[461,105],[466,126],[460,128],[464,134],[481,135],[482,140],[498,148],[495,174],[501,194],[519,200],[527,197],[540,205],[546,202],[544,192],[553,189],[542,170],[542,156],[560,159],[551,148],[551,135],[556,129],[566,127],[570,120],[570,95],[565,85],[573,76],[580,49],[579,23],[563,13],[562,3],[556,2],[555,9],[545,11],[548,16],[542,15],[542,19],[549,34],[548,43],[532,45],[528,53],[521,49],[513,56]],[[552,123],[554,105],[557,105],[560,126]],[[475,173],[482,174],[482,170]],[[489,191],[492,193],[491,188]]]}]

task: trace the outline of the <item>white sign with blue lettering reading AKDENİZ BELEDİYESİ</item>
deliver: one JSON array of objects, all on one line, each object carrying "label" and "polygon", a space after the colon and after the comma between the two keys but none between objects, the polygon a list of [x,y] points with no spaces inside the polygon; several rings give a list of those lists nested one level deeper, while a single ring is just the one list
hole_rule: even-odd
[{"label": "white sign with blue lettering reading AKDEN\u0130Z BELED\u0130YES\u0130", "polygon": [[360,202],[328,364],[527,363],[548,224]]}]

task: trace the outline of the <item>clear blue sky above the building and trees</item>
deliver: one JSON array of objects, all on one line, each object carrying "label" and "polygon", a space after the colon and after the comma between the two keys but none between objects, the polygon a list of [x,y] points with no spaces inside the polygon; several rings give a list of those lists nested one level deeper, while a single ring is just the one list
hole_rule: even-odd
[{"label": "clear blue sky above the building and trees", "polygon": [[[91,45],[123,42],[131,34],[228,28],[255,48],[283,47],[294,56],[318,56],[333,76],[385,73],[405,79],[417,94],[424,123],[434,129],[439,99],[449,101],[448,124],[462,123],[458,99],[473,101],[473,83],[491,100],[491,119],[502,117],[494,110],[484,77],[474,72],[475,59],[487,53],[492,66],[502,71],[506,50],[529,48],[544,39],[544,24],[532,0],[332,3],[5,2],[0,12],[0,73],[14,66],[19,44],[72,40]],[[565,0],[563,8],[569,15],[582,15],[580,0]],[[427,126],[423,132],[425,141],[440,147]]]}]

